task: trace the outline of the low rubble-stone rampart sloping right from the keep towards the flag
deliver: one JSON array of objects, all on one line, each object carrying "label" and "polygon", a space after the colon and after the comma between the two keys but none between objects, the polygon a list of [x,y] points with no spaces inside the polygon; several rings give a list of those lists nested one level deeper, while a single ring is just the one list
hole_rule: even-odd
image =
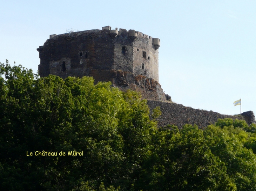
[{"label": "low rubble-stone rampart sloping right from the keep towards the flag", "polygon": [[150,112],[157,106],[160,106],[162,115],[157,119],[158,125],[164,127],[166,125],[176,125],[182,128],[185,124],[196,124],[199,128],[214,124],[217,119],[231,118],[245,120],[249,125],[256,123],[255,116],[252,111],[243,112],[242,116],[222,115],[213,111],[193,109],[181,104],[167,103],[161,101],[148,100]]}]

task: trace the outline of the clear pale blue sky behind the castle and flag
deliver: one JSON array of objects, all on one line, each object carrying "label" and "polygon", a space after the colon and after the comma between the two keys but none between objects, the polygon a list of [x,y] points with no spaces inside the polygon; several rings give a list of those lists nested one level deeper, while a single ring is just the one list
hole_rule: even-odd
[{"label": "clear pale blue sky behind the castle and flag", "polygon": [[256,111],[256,1],[4,1],[0,61],[37,71],[36,51],[66,29],[134,29],[160,38],[159,76],[176,103],[222,114]]}]

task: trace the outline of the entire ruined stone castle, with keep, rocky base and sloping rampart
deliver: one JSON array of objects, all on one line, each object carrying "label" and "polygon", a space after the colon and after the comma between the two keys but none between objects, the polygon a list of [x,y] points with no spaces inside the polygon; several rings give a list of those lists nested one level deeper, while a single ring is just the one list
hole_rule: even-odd
[{"label": "entire ruined stone castle, with keep, rocky base and sloping rampart", "polygon": [[61,78],[93,76],[95,83],[110,81],[123,91],[138,91],[142,98],[148,100],[150,111],[160,106],[160,126],[174,124],[181,128],[190,123],[203,128],[215,123],[218,118],[237,118],[246,120],[248,124],[256,123],[252,111],[241,116],[228,116],[171,103],[171,97],[164,94],[158,82],[159,47],[159,38],[135,30],[112,30],[110,26],[102,27],[102,30],[50,35],[37,49],[39,75],[53,74]]}]

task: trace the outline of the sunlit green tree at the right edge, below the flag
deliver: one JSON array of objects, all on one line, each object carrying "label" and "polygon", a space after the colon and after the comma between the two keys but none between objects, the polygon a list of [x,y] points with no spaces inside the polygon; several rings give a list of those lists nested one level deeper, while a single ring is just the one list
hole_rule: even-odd
[{"label": "sunlit green tree at the right edge, below the flag", "polygon": [[232,119],[219,119],[216,125],[210,125],[204,131],[211,152],[224,162],[227,175],[233,179],[237,190],[254,190],[256,156],[251,149],[244,147],[250,134],[243,128],[248,125]]}]

